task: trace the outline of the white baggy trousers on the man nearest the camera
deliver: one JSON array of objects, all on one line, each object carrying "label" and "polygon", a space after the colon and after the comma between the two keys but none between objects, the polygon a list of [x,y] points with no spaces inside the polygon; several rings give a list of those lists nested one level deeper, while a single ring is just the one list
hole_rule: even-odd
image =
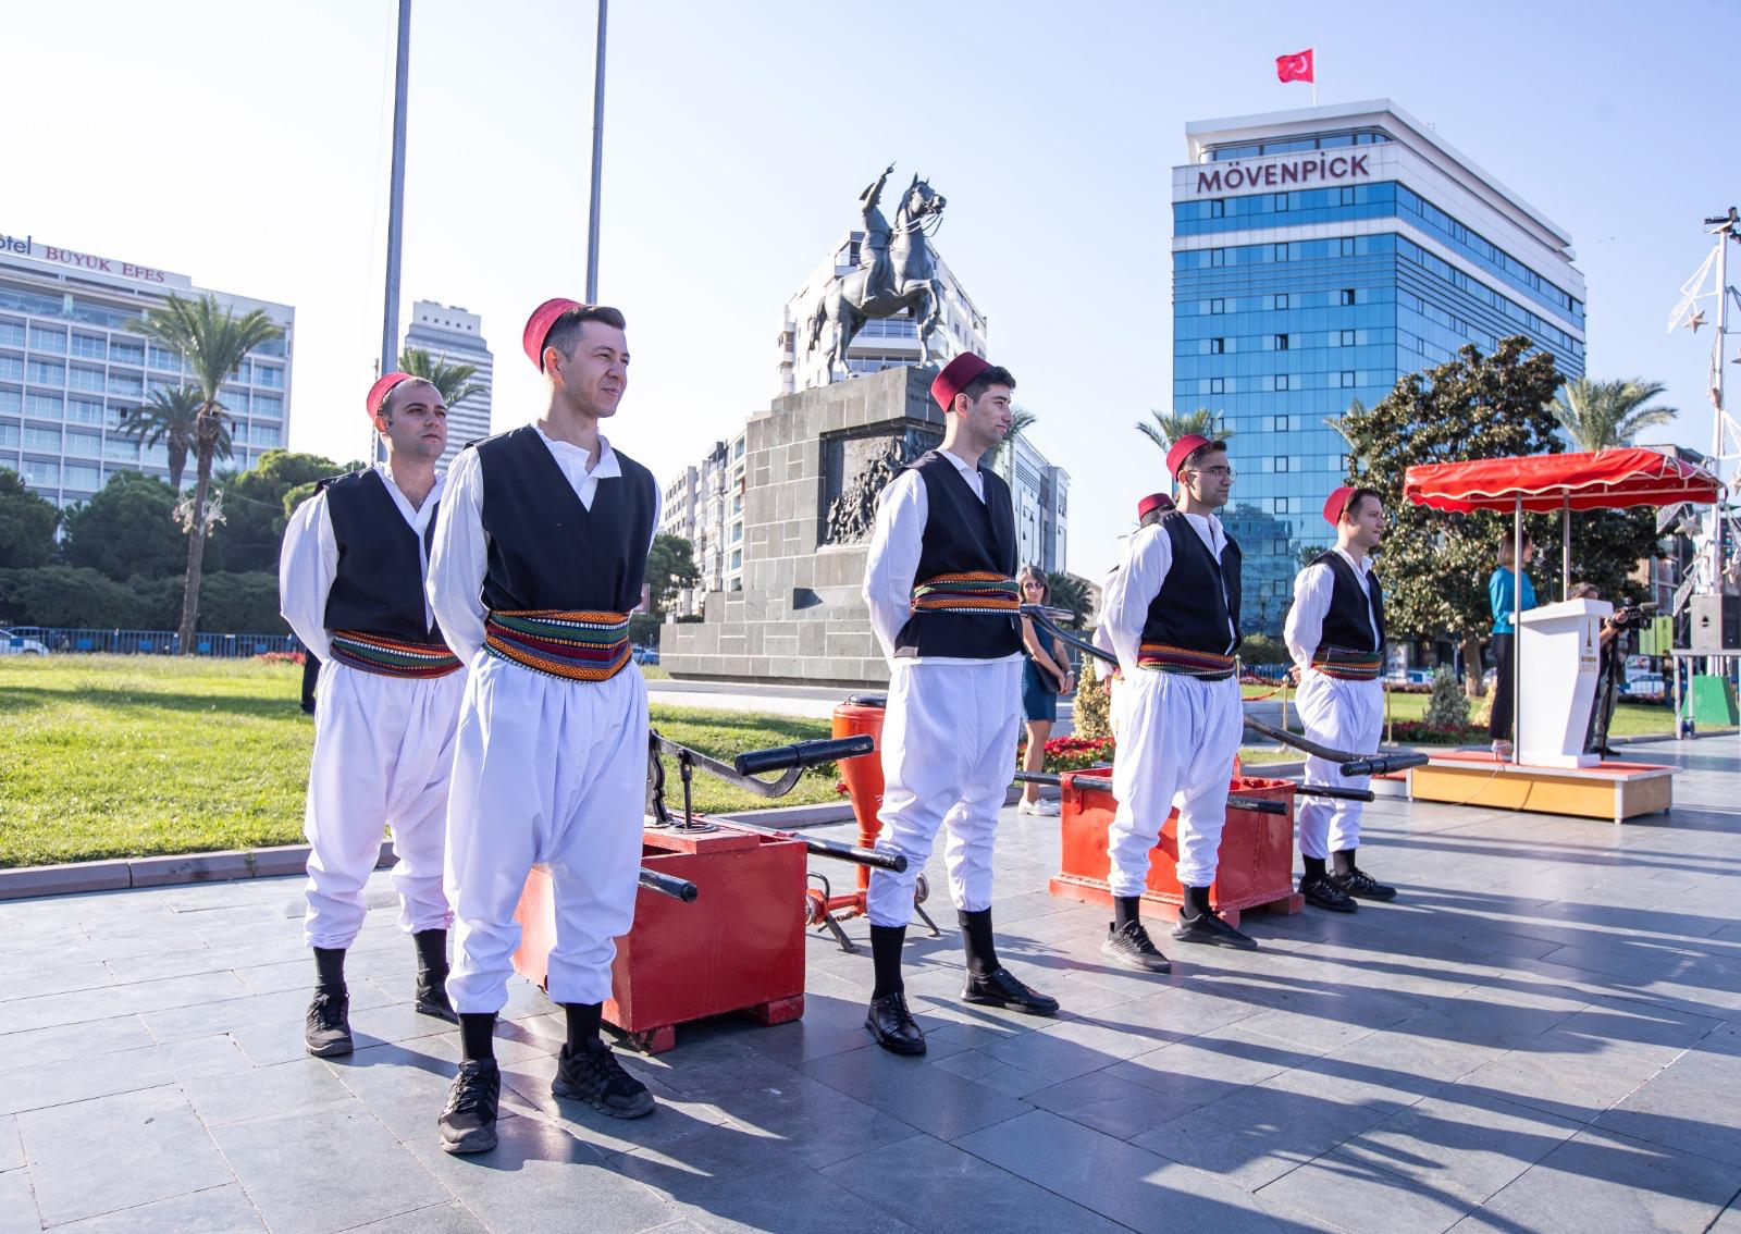
[{"label": "white baggy trousers on the man nearest the camera", "polygon": [[521,943],[514,909],[550,867],[555,1003],[611,996],[616,938],[635,919],[648,773],[648,689],[627,665],[564,681],[479,651],[460,708],[447,799],[447,896],[461,1013],[500,1011]]}]

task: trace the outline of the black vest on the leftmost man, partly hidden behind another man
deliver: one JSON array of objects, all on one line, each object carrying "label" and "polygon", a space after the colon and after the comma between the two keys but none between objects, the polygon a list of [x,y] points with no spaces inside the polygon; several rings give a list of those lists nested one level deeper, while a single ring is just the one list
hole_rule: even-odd
[{"label": "black vest on the leftmost man, partly hidden behind another man", "polygon": [[[326,628],[360,630],[411,642],[440,642],[440,628],[425,623],[423,557],[418,533],[399,513],[393,494],[371,466],[320,480],[327,519],[338,541],[338,574],[327,592]],[[423,533],[423,552],[435,538],[435,512]]]}]

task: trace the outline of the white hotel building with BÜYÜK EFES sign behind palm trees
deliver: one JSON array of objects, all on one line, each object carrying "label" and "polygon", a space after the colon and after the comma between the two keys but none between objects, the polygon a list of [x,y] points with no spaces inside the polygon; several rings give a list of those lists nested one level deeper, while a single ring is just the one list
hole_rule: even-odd
[{"label": "white hotel building with B\u00dcY\u00dcK EFES sign behind palm trees", "polygon": [[[129,329],[146,310],[207,294],[186,275],[0,233],[0,466],[59,506],[91,498],[115,472],[169,479],[164,446],[117,432],[151,390],[190,379],[181,357]],[[235,454],[245,470],[286,444],[296,310],[214,291],[237,313],[259,308],[284,327],[223,386]],[[193,461],[183,486],[193,484]]]}]

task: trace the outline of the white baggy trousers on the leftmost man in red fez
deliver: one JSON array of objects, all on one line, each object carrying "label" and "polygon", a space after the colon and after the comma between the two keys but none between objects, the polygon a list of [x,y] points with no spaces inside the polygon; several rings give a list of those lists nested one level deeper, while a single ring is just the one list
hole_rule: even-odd
[{"label": "white baggy trousers on the leftmost man in red fez", "polygon": [[406,679],[320,665],[308,768],[308,914],[303,942],[350,947],[367,915],[364,886],[393,832],[399,928],[446,929],[442,834],[465,674]]}]

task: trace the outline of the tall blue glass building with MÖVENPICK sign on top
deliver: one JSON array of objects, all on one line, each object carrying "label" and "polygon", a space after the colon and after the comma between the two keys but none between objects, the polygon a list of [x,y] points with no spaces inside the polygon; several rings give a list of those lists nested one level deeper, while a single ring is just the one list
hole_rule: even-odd
[{"label": "tall blue glass building with M\u00d6VENPICK sign on top", "polygon": [[1388,99],[1186,125],[1173,167],[1173,411],[1233,430],[1245,628],[1280,634],[1348,472],[1325,419],[1464,343],[1584,371],[1572,238]]}]

